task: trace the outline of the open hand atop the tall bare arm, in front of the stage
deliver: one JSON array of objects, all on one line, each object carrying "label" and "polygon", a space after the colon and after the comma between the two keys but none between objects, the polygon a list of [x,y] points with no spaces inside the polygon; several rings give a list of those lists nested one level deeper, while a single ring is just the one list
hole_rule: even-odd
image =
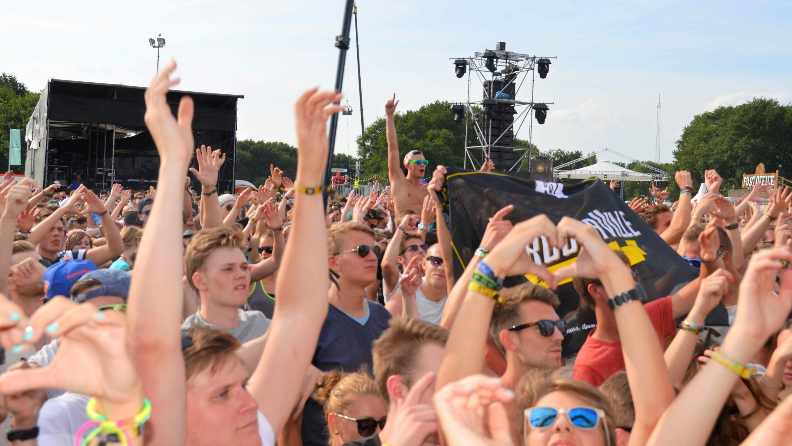
[{"label": "open hand atop the tall bare arm, in front of the stage", "polygon": [[163,162],[170,160],[189,162],[192,158],[192,114],[194,105],[192,97],[183,96],[179,102],[178,120],[173,117],[166,94],[170,87],[180,82],[179,78],[170,79],[170,74],[176,70],[176,63],[171,60],[159,72],[154,81],[146,90],[146,127],[151,132],[151,138],[157,145],[159,157]]}]

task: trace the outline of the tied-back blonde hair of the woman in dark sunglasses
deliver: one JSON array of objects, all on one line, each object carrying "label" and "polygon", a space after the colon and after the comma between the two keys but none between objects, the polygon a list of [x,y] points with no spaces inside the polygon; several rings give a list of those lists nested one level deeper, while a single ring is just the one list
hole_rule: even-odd
[{"label": "tied-back blonde hair of the woman in dark sunglasses", "polygon": [[330,414],[343,415],[352,402],[364,395],[382,398],[374,379],[365,372],[344,373],[331,370],[322,373],[314,391],[314,399],[325,408],[325,420]]}]

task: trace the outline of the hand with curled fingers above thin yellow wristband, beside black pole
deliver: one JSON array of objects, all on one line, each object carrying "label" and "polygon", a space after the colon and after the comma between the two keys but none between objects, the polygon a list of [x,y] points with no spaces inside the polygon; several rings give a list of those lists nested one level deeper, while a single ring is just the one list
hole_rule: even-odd
[{"label": "hand with curled fingers above thin yellow wristband, beside black pole", "polygon": [[329,151],[327,118],[344,109],[343,105],[331,105],[338,101],[341,101],[341,93],[319,92],[314,88],[300,95],[295,103],[297,181],[303,187],[315,187],[321,181]]}]

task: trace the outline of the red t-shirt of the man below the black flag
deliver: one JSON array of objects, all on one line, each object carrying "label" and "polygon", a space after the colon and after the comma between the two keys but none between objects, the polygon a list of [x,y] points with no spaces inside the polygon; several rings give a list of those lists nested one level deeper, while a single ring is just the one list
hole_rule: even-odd
[{"label": "red t-shirt of the man below the black flag", "polygon": [[[644,308],[661,343],[665,337],[676,334],[671,296],[646,303]],[[624,370],[624,356],[621,341],[600,341],[592,337],[595,331],[596,328],[588,332],[577,353],[572,377],[597,387],[615,372]]]}]

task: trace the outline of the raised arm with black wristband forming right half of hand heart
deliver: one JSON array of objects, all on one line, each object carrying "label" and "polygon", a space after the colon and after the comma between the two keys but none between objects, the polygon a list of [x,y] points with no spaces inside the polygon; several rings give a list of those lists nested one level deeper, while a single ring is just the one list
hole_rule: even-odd
[{"label": "raised arm with black wristband forming right half of hand heart", "polygon": [[[631,291],[637,292],[631,295],[633,297],[641,294],[645,297],[643,288],[635,283],[630,268],[619,261],[619,257],[592,227],[564,217],[558,223],[558,237],[574,238],[581,250],[573,264],[563,266],[554,273],[554,284],[567,277],[589,277],[599,279],[611,299]],[[622,343],[627,381],[631,389],[636,389],[632,392],[635,421],[630,433],[630,444],[643,445],[657,420],[673,401],[674,389],[668,379],[657,333],[643,303],[630,300],[615,307],[613,314],[619,333],[629,334],[620,336],[619,340]]]}]

